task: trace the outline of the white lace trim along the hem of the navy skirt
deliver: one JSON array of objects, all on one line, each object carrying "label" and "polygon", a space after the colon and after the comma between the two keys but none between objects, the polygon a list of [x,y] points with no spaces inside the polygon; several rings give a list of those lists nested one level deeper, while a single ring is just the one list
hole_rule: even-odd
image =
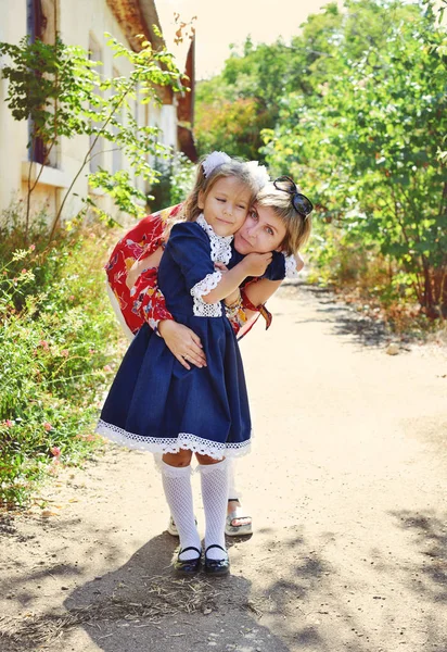
[{"label": "white lace trim along the hem of the navy skirt", "polygon": [[100,419],[95,431],[103,435],[115,443],[120,443],[131,449],[150,451],[152,453],[178,453],[180,449],[188,449],[201,455],[208,455],[214,460],[226,457],[238,457],[250,452],[251,440],[239,443],[220,443],[209,439],[203,439],[191,432],[179,432],[176,438],[170,437],[143,437],[127,432],[113,424]]}]

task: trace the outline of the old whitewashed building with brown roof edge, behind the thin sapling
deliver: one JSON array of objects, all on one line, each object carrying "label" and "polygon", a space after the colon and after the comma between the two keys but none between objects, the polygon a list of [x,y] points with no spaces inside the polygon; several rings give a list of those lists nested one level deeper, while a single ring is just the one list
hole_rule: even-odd
[{"label": "old whitewashed building with brown roof edge, behind the thin sapling", "polygon": [[[139,48],[139,40],[135,38],[138,34],[143,34],[154,48],[163,43],[163,39],[152,28],[154,24],[159,28],[154,0],[0,0],[0,41],[18,43],[23,36],[29,34],[43,42],[52,43],[58,32],[64,43],[90,50],[93,60],[102,61],[101,73],[104,77],[126,75],[130,65],[122,59],[113,59],[112,50],[105,45],[105,33],[135,50]],[[193,71],[193,48],[190,51],[190,74],[191,70]],[[5,104],[7,92],[7,80],[1,79],[0,63],[0,212],[26,196],[30,155],[27,149],[29,126],[25,121],[14,121]],[[191,151],[194,151],[193,145],[191,150],[192,135],[188,128],[187,136],[184,134],[184,111],[189,111],[191,118],[191,99],[188,99],[186,109],[186,98],[177,99],[167,87],[163,95],[161,106],[146,104],[138,108],[138,121],[143,125],[158,126],[162,129],[161,142],[182,149],[191,156]],[[181,125],[178,124],[178,111],[181,113]],[[184,142],[190,147],[186,148]],[[33,213],[47,206],[48,212],[54,214],[88,149],[88,136],[61,139],[58,151],[51,152],[50,161],[33,193]],[[110,147],[95,152],[97,155],[90,163],[91,170],[94,171],[98,165],[111,172],[126,168],[127,162],[122,152],[107,149]],[[39,159],[37,148],[33,174],[40,170],[41,155],[40,153]],[[86,170],[79,176],[74,192],[64,206],[64,216],[76,214],[81,205],[79,197],[91,192],[88,172]],[[108,198],[101,201],[104,209],[111,210]]]}]

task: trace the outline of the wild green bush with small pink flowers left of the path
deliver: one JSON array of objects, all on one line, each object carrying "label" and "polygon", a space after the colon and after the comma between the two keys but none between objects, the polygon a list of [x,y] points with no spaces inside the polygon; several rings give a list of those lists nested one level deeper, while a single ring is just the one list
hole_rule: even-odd
[{"label": "wild green bush with small pink flowers left of the path", "polygon": [[99,444],[94,423],[118,340],[102,268],[111,236],[71,224],[48,249],[42,216],[20,249],[20,224],[14,210],[0,227],[3,506],[26,504],[37,480]]}]

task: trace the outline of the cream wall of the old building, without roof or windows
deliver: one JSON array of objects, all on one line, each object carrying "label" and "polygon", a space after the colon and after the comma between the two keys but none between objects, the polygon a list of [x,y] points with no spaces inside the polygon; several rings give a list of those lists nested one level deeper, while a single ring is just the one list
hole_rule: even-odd
[{"label": "cream wall of the old building, without roof or windows", "polygon": [[[111,77],[114,74],[127,75],[130,64],[122,59],[113,59],[112,50],[105,45],[104,33],[112,34],[120,42],[126,43],[125,35],[108,9],[105,0],[77,0],[59,3],[59,28],[62,40],[66,45],[77,45],[89,50],[90,43],[95,42],[101,51],[103,66],[100,72]],[[26,0],[0,0],[0,40],[18,42],[26,34],[27,14]],[[26,148],[28,125],[12,118],[9,109],[4,105],[7,82],[0,78],[0,211],[8,208],[12,200],[17,199],[20,192],[26,192],[27,173],[29,171],[28,151]],[[150,124],[157,124],[163,128],[162,142],[177,146],[177,121],[174,106],[162,109],[150,106],[138,110],[140,121],[149,117]],[[90,147],[89,138],[79,136],[73,139],[62,138],[56,155],[56,170],[47,168],[41,177],[38,188],[34,193],[33,210],[39,211],[43,205],[53,212],[65,195],[64,188],[68,186],[78,172],[84,156]],[[107,170],[116,167],[119,156],[110,151],[111,143],[105,142],[101,164]],[[123,166],[127,166],[122,156]],[[31,170],[35,173],[34,170]],[[88,191],[86,167],[74,187],[74,193],[64,206],[63,215],[71,217],[81,208],[79,197],[85,197]],[[98,199],[98,198],[97,198]],[[104,197],[100,199],[103,209],[112,211],[112,201]]]}]

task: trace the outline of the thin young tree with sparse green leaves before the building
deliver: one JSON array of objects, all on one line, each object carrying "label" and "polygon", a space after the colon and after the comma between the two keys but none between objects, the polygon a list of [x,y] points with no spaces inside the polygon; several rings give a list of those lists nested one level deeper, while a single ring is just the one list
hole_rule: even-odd
[{"label": "thin young tree with sparse green leaves before the building", "polygon": [[[53,217],[50,240],[74,185],[94,155],[100,138],[110,142],[112,148],[120,148],[133,173],[150,183],[156,179],[157,173],[149,165],[148,153],[167,155],[165,148],[157,143],[158,129],[137,124],[131,102],[161,103],[162,86],[169,85],[176,91],[183,89],[173,55],[165,49],[154,51],[143,38],[139,52],[127,49],[112,37],[108,37],[107,45],[113,49],[115,58],[125,58],[131,64],[128,77],[101,78],[94,70],[100,62],[90,61],[88,52],[78,47],[65,46],[60,38],[54,45],[43,43],[38,39],[29,42],[29,37],[22,39],[18,46],[0,43],[0,54],[5,54],[11,60],[2,70],[3,76],[9,80],[8,105],[15,120],[31,121],[28,148],[33,149],[37,139],[44,148],[40,171],[34,181],[34,156],[30,156],[25,241],[33,191],[52,148],[61,137],[89,135],[91,139],[81,165]],[[100,92],[94,92],[95,90]],[[138,200],[144,205],[145,195],[135,186],[127,171],[120,170],[112,174],[99,168],[89,175],[89,184],[107,192],[122,210],[130,214],[143,212]],[[91,198],[84,199],[87,205],[110,217]]]}]

